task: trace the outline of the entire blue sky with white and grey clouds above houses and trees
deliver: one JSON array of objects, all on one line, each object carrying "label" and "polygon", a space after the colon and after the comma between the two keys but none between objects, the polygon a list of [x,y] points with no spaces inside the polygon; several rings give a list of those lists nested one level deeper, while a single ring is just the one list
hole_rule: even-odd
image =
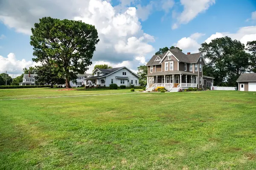
[{"label": "entire blue sky with white and grey clouds above houses and trees", "polygon": [[95,25],[100,43],[93,65],[107,63],[136,71],[165,46],[197,52],[202,42],[216,37],[230,36],[243,43],[256,40],[254,11],[255,0],[3,0],[0,72],[18,75],[23,67],[36,65],[30,28],[44,16]]}]

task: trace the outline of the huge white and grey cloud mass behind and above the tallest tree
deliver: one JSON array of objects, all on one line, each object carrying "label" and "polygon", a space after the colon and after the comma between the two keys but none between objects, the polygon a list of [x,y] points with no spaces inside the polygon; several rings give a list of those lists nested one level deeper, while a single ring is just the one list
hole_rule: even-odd
[{"label": "huge white and grey cloud mass behind and above the tallest tree", "polygon": [[[122,6],[127,6],[136,1],[121,0],[121,3]],[[96,45],[93,63],[104,61],[116,65],[130,61],[133,63],[130,65],[131,68],[136,69],[140,61],[135,58],[154,51],[153,46],[148,44],[154,42],[154,37],[145,34],[142,30],[139,9],[125,7],[116,10],[110,2],[110,0],[12,0],[11,3],[5,0],[0,6],[0,21],[17,32],[30,35],[34,23],[38,23],[41,17],[82,20],[94,25],[98,31],[100,41]],[[148,10],[152,9],[148,8]]]}]

